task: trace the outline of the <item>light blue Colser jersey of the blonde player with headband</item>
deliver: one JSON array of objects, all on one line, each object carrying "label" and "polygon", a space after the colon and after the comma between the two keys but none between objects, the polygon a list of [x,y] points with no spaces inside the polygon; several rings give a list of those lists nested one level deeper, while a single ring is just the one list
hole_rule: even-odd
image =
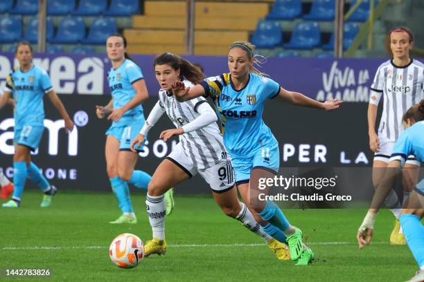
[{"label": "light blue Colser jersey of the blonde player with headband", "polygon": [[236,91],[231,75],[224,73],[205,79],[201,85],[206,96],[212,97],[221,115],[224,144],[231,157],[251,157],[260,147],[278,145],[262,119],[263,104],[278,95],[278,83],[250,73],[246,86]]}]

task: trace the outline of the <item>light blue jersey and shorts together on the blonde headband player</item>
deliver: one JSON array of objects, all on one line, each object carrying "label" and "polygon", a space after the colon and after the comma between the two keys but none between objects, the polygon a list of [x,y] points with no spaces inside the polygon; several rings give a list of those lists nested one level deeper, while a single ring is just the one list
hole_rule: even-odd
[{"label": "light blue jersey and shorts together on the blonde headband player", "polygon": [[279,84],[254,73],[249,74],[240,91],[234,89],[229,73],[209,77],[200,84],[221,116],[224,145],[231,155],[237,185],[249,182],[255,167],[278,171],[279,143],[262,115],[265,100],[279,94]]}]

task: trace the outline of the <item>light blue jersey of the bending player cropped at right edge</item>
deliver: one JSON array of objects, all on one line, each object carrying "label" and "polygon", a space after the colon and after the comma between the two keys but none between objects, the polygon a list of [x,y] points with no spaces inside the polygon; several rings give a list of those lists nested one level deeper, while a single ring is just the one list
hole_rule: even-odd
[{"label": "light blue jersey of the bending player cropped at right edge", "polygon": [[391,154],[391,160],[405,162],[409,155],[414,155],[416,160],[424,162],[424,120],[416,122],[400,134]]}]

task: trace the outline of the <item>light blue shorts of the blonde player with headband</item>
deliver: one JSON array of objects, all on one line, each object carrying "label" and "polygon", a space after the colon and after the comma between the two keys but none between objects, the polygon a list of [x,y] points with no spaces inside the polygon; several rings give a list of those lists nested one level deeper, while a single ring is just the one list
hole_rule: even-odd
[{"label": "light blue shorts of the blonde player with headband", "polygon": [[280,167],[280,150],[279,145],[271,147],[260,147],[249,158],[238,158],[231,156],[231,163],[236,175],[236,184],[240,185],[249,182],[251,170],[258,167],[263,167],[266,170],[279,171]]}]

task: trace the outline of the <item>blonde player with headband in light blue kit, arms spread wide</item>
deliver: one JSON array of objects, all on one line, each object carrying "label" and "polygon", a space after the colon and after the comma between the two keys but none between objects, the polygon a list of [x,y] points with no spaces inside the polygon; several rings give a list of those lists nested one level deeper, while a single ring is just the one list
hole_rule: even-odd
[{"label": "blonde player with headband in light blue kit, arms spread wide", "polygon": [[258,63],[254,45],[237,41],[229,48],[229,73],[209,77],[191,88],[176,82],[173,93],[180,101],[199,96],[212,98],[222,117],[224,145],[231,155],[236,184],[243,200],[258,214],[256,220],[267,234],[280,242],[288,242],[290,258],[299,259],[297,265],[308,265],[313,253],[303,244],[301,230],[290,225],[274,202],[258,201],[257,197],[254,200],[258,187],[251,176],[259,172],[262,176],[274,177],[280,164],[279,142],[263,122],[263,105],[267,99],[278,98],[328,111],[339,108],[342,101],[321,103],[301,93],[287,91],[254,68],[254,63]]}]

